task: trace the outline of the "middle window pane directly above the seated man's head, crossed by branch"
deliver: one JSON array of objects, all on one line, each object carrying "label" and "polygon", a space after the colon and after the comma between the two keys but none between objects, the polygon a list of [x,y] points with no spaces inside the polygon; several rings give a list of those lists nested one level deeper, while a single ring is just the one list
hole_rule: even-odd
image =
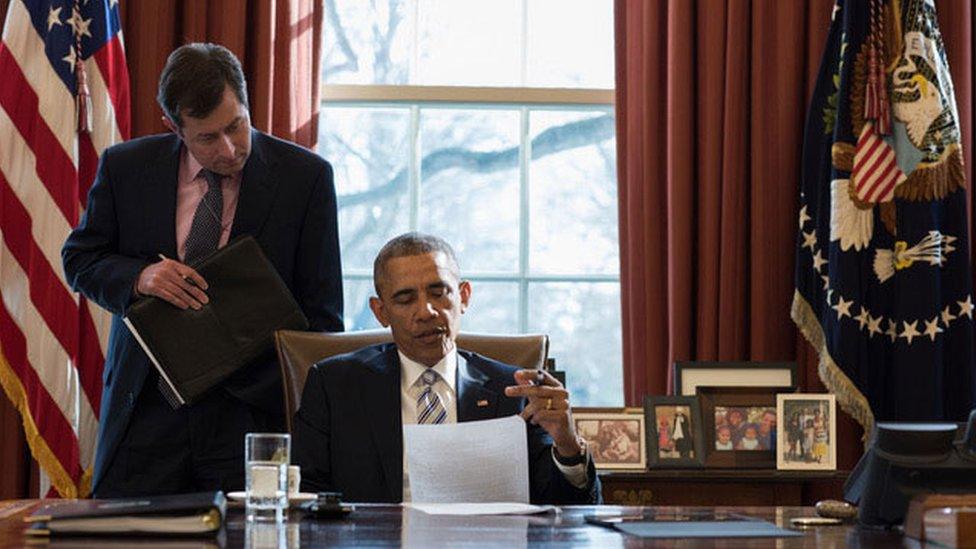
[{"label": "middle window pane directly above the seated man's head, crossed by branch", "polygon": [[462,272],[518,268],[518,112],[421,110],[420,230],[454,246]]}]

